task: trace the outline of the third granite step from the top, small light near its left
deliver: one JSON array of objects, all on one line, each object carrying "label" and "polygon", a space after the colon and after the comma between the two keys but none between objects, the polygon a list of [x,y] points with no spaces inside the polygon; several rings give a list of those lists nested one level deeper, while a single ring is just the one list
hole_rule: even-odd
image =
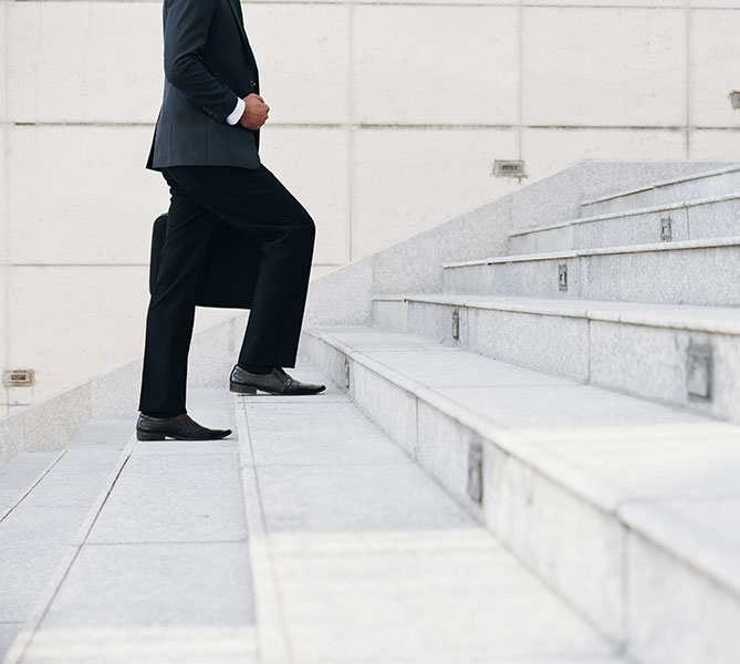
[{"label": "third granite step from the top, small light near its left", "polygon": [[477,259],[444,264],[450,294],[740,304],[740,237]]}]

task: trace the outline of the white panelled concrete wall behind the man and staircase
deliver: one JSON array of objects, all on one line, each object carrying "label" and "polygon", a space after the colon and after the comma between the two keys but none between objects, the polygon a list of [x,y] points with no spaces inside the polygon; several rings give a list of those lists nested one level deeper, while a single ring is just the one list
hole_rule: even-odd
[{"label": "white panelled concrete wall behind the man and staircase", "polygon": [[[740,0],[243,4],[263,162],[312,212],[314,271],[581,158],[737,159]],[[159,1],[2,0],[0,360],[29,403],[143,352],[161,177]],[[543,220],[544,221],[544,220]],[[227,312],[200,310],[198,324]],[[2,408],[2,406],[0,406]],[[2,414],[0,409],[0,414]]]}]

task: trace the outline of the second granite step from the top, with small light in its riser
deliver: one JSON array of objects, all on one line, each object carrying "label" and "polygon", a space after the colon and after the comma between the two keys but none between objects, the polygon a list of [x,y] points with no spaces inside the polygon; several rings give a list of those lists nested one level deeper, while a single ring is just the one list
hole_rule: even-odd
[{"label": "second granite step from the top, with small light in its riser", "polygon": [[510,234],[510,253],[541,253],[740,235],[740,194],[572,219]]}]

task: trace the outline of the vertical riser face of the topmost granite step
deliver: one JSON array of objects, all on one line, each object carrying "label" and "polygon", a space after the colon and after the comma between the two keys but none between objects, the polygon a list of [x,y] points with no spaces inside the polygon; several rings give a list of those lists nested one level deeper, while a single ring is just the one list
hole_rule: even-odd
[{"label": "vertical riser face of the topmost granite step", "polygon": [[607,215],[654,205],[669,205],[695,198],[709,198],[740,191],[740,173],[723,173],[609,198],[581,206],[581,216]]}]

